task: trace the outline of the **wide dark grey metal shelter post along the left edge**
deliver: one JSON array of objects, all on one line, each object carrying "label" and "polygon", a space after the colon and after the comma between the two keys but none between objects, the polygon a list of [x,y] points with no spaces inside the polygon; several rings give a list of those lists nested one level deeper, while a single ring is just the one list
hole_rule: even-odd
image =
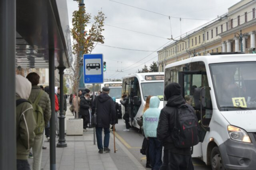
[{"label": "wide dark grey metal shelter post along the left edge", "polygon": [[16,170],[16,0],[0,0],[0,11],[0,170]]}]

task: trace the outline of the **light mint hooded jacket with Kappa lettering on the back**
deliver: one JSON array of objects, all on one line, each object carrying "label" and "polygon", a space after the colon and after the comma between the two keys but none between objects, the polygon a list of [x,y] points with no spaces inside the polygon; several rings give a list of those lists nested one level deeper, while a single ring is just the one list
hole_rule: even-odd
[{"label": "light mint hooded jacket with Kappa lettering on the back", "polygon": [[160,116],[160,100],[157,96],[152,96],[149,102],[149,109],[143,114],[143,131],[145,138],[157,138],[157,127]]}]

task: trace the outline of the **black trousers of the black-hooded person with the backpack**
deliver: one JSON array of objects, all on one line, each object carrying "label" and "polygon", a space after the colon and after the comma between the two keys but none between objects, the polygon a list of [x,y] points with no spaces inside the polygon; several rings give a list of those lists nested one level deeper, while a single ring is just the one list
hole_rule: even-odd
[{"label": "black trousers of the black-hooded person with the backpack", "polygon": [[191,155],[181,155],[171,152],[171,150],[163,151],[163,163],[160,170],[194,170]]}]

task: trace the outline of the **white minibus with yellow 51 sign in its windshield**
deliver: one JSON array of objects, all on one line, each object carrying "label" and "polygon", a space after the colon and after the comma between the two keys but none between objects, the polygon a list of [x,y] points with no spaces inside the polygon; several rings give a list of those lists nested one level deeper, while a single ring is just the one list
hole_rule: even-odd
[{"label": "white minibus with yellow 51 sign in its windshield", "polygon": [[164,74],[164,86],[179,83],[183,97],[192,97],[201,128],[192,157],[212,170],[255,170],[256,55],[191,57]]}]

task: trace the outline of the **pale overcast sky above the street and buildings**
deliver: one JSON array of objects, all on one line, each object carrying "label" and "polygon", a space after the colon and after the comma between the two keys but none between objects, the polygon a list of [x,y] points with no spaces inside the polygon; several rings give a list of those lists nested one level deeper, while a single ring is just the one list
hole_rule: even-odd
[{"label": "pale overcast sky above the street and buildings", "polygon": [[[159,51],[164,45],[169,44],[170,40],[167,38],[170,38],[171,34],[173,38],[180,37],[181,34],[223,15],[230,6],[239,1],[84,0],[86,12],[92,15],[92,21],[93,16],[100,10],[107,17],[102,34],[105,38],[104,45],[112,46],[98,44],[92,54],[103,54],[107,63],[105,79],[121,79],[123,76],[137,72],[138,69],[141,70],[144,64],[149,67],[153,61],[157,61],[158,54],[154,51]],[[72,13],[78,10],[78,3],[67,0],[67,7],[69,25],[72,27]],[[171,17],[170,20],[168,16]]]}]

